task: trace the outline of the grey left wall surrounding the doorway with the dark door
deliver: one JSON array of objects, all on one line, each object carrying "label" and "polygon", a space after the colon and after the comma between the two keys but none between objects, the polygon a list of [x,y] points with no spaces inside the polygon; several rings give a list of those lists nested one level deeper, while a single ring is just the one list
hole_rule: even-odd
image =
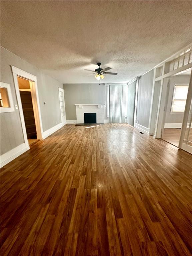
[{"label": "grey left wall surrounding the doorway with the dark door", "polygon": [[[10,84],[13,104],[17,104],[11,65],[37,76],[43,131],[61,123],[58,87],[62,83],[45,75],[41,70],[1,47],[1,82]],[[43,102],[47,104],[44,105]],[[24,143],[19,109],[0,114],[1,147],[0,155]]]}]

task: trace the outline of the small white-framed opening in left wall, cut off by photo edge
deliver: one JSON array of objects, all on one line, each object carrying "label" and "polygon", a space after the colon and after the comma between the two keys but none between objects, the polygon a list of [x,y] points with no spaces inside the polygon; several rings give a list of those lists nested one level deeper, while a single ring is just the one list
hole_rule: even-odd
[{"label": "small white-framed opening in left wall, cut off by photo edge", "polygon": [[10,84],[0,82],[0,113],[14,111]]}]

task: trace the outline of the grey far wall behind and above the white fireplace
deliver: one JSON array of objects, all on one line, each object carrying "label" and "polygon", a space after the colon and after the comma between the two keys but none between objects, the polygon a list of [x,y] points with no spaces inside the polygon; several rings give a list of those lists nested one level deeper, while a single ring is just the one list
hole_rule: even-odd
[{"label": "grey far wall behind and above the white fireplace", "polygon": [[107,86],[104,84],[63,84],[67,120],[76,120],[74,104],[105,103],[104,119],[107,119]]}]

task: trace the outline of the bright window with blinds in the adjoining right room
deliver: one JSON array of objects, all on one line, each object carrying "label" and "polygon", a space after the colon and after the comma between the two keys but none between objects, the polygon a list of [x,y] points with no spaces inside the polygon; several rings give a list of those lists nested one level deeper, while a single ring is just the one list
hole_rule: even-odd
[{"label": "bright window with blinds in the adjoining right room", "polygon": [[188,84],[174,85],[171,113],[182,113],[185,111],[188,87]]}]

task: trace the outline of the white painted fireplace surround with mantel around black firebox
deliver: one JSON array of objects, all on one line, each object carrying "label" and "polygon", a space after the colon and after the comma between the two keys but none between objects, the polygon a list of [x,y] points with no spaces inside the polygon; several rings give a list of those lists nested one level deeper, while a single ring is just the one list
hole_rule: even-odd
[{"label": "white painted fireplace surround with mantel around black firebox", "polygon": [[105,104],[74,104],[76,106],[77,123],[84,123],[84,113],[96,113],[97,123],[104,123],[104,108]]}]

